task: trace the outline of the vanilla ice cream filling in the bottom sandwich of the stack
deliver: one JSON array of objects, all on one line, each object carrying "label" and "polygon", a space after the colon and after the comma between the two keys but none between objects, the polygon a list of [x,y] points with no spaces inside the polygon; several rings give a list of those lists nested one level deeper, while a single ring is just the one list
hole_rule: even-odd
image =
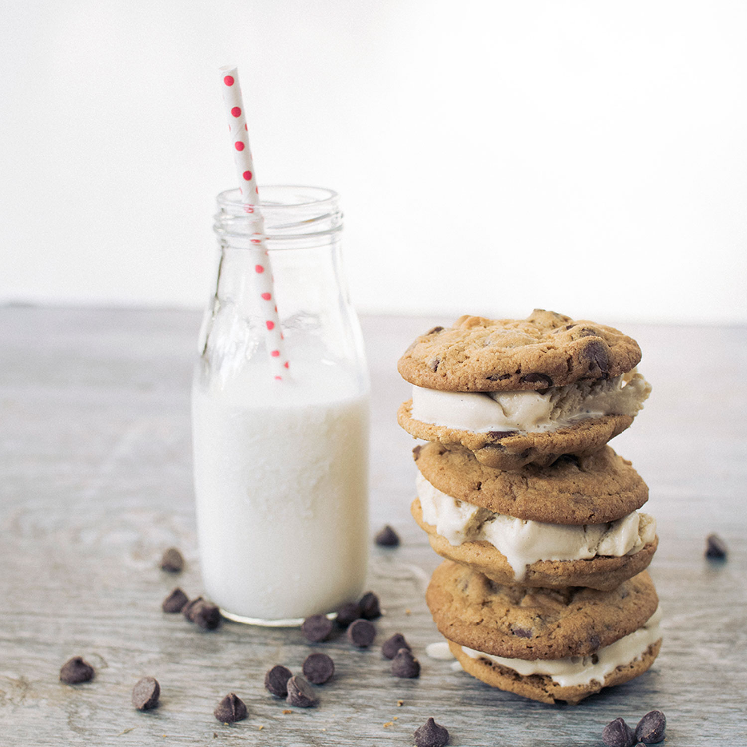
[{"label": "vanilla ice cream filling in the bottom sandwich of the stack", "polygon": [[500,666],[506,666],[518,672],[522,677],[528,675],[548,675],[552,681],[561,687],[574,685],[588,685],[592,680],[604,684],[604,678],[614,672],[619,666],[627,666],[639,660],[652,643],[661,638],[660,630],[661,608],[629,636],[624,636],[608,646],[603,646],[592,656],[573,656],[565,659],[545,660],[537,659],[506,659],[505,657],[484,654],[473,648],[462,646],[462,651],[472,659],[487,659]]}]

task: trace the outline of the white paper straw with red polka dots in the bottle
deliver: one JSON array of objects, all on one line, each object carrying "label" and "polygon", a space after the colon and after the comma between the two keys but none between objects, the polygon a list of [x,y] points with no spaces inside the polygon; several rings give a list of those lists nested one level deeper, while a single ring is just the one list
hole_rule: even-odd
[{"label": "white paper straw with red polka dots in the bottle", "polygon": [[229,120],[241,202],[244,203],[244,212],[252,214],[255,229],[249,238],[253,245],[252,253],[255,254],[252,291],[257,294],[260,302],[267,353],[270,355],[270,367],[275,378],[282,381],[283,376],[288,374],[290,364],[285,355],[285,341],[283,341],[278,307],[275,302],[270,255],[267,253],[265,244],[264,218],[259,207],[259,190],[254,173],[252,150],[249,148],[247,120],[244,115],[244,102],[241,100],[241,87],[236,67],[220,68],[220,86],[223,88],[223,103],[226,105],[226,116]]}]

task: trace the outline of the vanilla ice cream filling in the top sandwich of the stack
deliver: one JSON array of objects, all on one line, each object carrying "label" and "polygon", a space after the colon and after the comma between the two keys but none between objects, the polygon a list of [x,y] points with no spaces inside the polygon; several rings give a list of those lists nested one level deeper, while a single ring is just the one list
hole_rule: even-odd
[{"label": "vanilla ice cream filling in the top sandwich of the stack", "polygon": [[439,391],[412,387],[412,417],[422,423],[487,433],[543,433],[603,415],[635,416],[651,385],[630,371],[607,381],[583,381],[539,391]]}]

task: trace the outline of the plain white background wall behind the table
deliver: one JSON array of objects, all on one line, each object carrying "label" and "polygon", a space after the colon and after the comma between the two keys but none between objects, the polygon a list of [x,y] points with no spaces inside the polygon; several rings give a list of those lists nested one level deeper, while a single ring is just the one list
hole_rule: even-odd
[{"label": "plain white background wall behind the table", "polygon": [[740,0],[4,0],[0,302],[202,306],[234,62],[359,310],[746,323],[746,39]]}]

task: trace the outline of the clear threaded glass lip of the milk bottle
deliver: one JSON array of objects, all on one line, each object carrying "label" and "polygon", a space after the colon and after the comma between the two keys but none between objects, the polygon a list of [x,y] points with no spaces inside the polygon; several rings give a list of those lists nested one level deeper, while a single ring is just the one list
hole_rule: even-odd
[{"label": "clear threaded glass lip of the milk bottle", "polygon": [[[219,193],[217,205],[214,229],[219,235],[241,238],[254,230],[238,188]],[[259,208],[270,244],[323,237],[342,229],[338,193],[326,187],[266,185],[261,187]]]}]

